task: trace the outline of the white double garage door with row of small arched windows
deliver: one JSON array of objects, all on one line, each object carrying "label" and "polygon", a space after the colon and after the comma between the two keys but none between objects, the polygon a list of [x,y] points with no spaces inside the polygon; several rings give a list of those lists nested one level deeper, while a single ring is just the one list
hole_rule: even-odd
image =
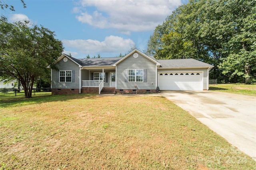
[{"label": "white double garage door with row of small arched windows", "polygon": [[203,90],[202,72],[158,72],[160,90]]}]

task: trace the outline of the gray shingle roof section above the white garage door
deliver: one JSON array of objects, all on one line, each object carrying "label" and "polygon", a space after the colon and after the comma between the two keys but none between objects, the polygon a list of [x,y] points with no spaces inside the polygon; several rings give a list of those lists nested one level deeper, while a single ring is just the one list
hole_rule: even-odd
[{"label": "gray shingle roof section above the white garage door", "polygon": [[171,59],[171,60],[157,60],[161,63],[160,67],[212,67],[212,65],[198,61],[195,59]]}]

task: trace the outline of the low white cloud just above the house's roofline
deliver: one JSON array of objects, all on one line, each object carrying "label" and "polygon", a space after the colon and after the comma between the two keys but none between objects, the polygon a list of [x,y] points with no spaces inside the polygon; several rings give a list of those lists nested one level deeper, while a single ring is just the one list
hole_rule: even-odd
[{"label": "low white cloud just above the house's roofline", "polygon": [[[64,47],[76,49],[76,51],[84,54],[84,56],[88,54],[97,55],[102,53],[126,53],[129,47],[135,44],[131,39],[124,39],[122,37],[113,35],[105,37],[104,41],[102,42],[92,39],[64,39],[62,40],[62,43],[64,44]],[[72,52],[71,54],[73,55]]]}]

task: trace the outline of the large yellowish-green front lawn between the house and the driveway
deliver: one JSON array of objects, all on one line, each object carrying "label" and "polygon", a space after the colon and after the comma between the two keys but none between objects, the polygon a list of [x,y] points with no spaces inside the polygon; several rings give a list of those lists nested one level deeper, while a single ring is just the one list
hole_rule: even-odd
[{"label": "large yellowish-green front lawn between the house and the driveway", "polygon": [[166,98],[60,95],[1,100],[0,169],[256,169]]}]

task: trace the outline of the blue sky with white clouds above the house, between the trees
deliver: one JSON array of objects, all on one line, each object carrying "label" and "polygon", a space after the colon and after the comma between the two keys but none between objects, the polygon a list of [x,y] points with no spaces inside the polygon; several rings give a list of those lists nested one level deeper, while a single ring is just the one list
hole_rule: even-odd
[{"label": "blue sky with white clouds above the house, between the trees", "polygon": [[55,31],[64,53],[75,58],[116,57],[132,45],[146,50],[157,25],[187,0],[4,0],[10,22],[29,20]]}]

